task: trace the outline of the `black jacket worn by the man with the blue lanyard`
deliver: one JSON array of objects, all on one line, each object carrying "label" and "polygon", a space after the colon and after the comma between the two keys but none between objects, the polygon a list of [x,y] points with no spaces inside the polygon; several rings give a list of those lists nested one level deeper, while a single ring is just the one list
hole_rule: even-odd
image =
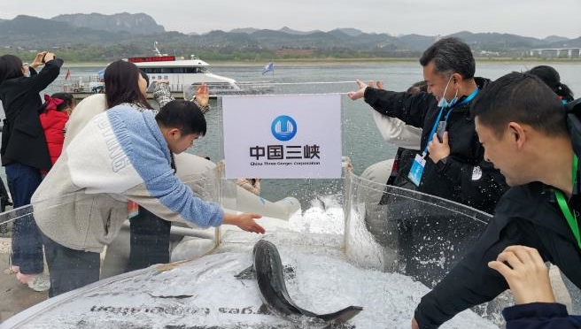
[{"label": "black jacket worn by the man with the blue lanyard", "polygon": [[[482,78],[475,80],[478,88],[484,88],[488,82]],[[422,149],[431,141],[430,132],[440,109],[438,101],[430,94],[409,95],[405,92],[367,88],[365,102],[384,115],[399,118],[407,125],[421,127]],[[439,168],[430,157],[426,157],[422,181],[417,190],[492,213],[500,195],[507,190],[507,184],[502,174],[491,163],[484,161],[484,148],[478,142],[474,120],[470,119],[469,104],[459,104],[448,110],[452,111],[446,128],[450,157]],[[442,119],[446,113],[443,113]],[[408,180],[407,174],[412,163],[399,168],[395,185]]]}]

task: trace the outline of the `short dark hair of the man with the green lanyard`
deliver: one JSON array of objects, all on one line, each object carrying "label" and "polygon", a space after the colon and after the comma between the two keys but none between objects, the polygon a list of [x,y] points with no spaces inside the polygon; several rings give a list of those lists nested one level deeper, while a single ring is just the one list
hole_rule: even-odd
[{"label": "short dark hair of the man with the green lanyard", "polygon": [[508,122],[534,127],[560,136],[569,134],[565,109],[559,96],[545,82],[529,73],[508,73],[488,84],[470,105],[472,118],[502,135]]}]

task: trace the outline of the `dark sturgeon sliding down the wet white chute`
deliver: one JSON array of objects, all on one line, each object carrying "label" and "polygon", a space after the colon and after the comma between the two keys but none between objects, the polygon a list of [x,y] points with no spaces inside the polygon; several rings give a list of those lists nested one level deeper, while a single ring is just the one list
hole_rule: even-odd
[{"label": "dark sturgeon sliding down the wet white chute", "polygon": [[262,302],[267,309],[292,322],[302,322],[306,319],[311,325],[325,328],[340,325],[355,317],[361,310],[360,306],[348,306],[343,310],[329,314],[316,314],[301,309],[291,300],[284,284],[284,268],[281,256],[276,246],[266,240],[260,240],[252,250],[254,264],[236,275],[238,279],[256,278],[260,288]]}]

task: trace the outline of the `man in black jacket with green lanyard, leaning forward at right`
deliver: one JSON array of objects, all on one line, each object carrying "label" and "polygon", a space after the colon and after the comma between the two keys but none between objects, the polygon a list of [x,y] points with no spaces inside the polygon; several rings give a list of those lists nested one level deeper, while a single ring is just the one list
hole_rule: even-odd
[{"label": "man in black jacket with green lanyard, leaning forward at right", "polygon": [[[581,112],[581,102],[564,105]],[[510,188],[474,247],[415,310],[412,328],[437,328],[507,289],[487,266],[511,245],[538,249],[581,287],[577,217],[581,184],[581,125],[567,119],[558,96],[537,77],[510,73],[489,84],[471,108],[484,158],[500,169]],[[569,127],[571,122],[577,126]]]}]

